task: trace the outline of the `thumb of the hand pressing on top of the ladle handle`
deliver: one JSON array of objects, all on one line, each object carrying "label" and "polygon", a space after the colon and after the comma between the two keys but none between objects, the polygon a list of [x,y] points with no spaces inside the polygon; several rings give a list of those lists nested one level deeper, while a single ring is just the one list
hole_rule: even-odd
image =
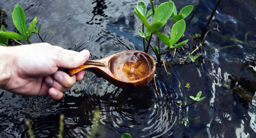
[{"label": "thumb of the hand pressing on top of the ladle handle", "polygon": [[[72,50],[68,50],[72,51]],[[81,52],[70,52],[72,54],[66,54],[66,51],[61,53],[60,57],[56,62],[58,68],[73,69],[84,65],[84,63],[89,59],[90,52],[88,50],[82,50]]]}]

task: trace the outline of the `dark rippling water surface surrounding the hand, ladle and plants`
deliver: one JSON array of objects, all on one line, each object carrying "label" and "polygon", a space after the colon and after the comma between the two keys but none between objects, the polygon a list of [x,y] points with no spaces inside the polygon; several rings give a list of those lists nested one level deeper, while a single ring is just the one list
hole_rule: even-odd
[{"label": "dark rippling water surface surrounding the hand, ladle and plants", "polygon": [[[200,0],[173,0],[178,10]],[[165,2],[155,1],[156,4]],[[17,31],[11,19],[13,8],[20,4],[27,22],[38,16],[42,24],[41,35],[52,45],[81,51],[88,49],[90,59],[100,59],[123,50],[143,50],[137,30],[141,29],[134,14],[135,0],[1,0],[3,24],[9,31]],[[148,7],[149,1],[145,0]],[[205,45],[196,62],[187,59],[183,65],[179,58],[195,49],[217,0],[203,0],[194,20],[185,31],[189,43],[176,52],[164,55],[167,71],[158,66],[154,81],[141,89],[123,90],[103,78],[87,72],[85,78],[64,98],[54,101],[45,97],[26,97],[0,91],[0,137],[29,137],[25,124],[30,119],[36,137],[56,137],[60,114],[65,115],[64,137],[88,137],[94,126],[94,137],[120,138],[125,132],[133,138],[254,138],[256,137],[256,2],[222,1],[209,25]],[[190,17],[186,19],[188,22]],[[219,24],[219,31],[213,28]],[[172,20],[162,29],[170,33]],[[245,34],[247,43],[245,43]],[[157,40],[154,37],[153,43]],[[231,41],[236,38],[243,43]],[[40,42],[37,36],[31,42]],[[24,42],[25,43],[25,42]],[[226,47],[229,46],[229,47]],[[162,50],[166,47],[162,44]],[[154,55],[151,50],[150,54]],[[153,56],[154,57],[154,56]],[[155,57],[154,57],[155,58]],[[202,91],[207,98],[185,108],[185,84],[190,95]],[[76,93],[75,90],[81,90]],[[95,120],[95,110],[100,110]],[[183,118],[190,123],[184,125]]]}]

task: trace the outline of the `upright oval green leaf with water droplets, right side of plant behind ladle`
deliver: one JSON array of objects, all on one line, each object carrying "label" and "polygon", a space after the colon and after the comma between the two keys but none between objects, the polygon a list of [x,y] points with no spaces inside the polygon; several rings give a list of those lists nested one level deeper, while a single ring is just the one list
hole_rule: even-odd
[{"label": "upright oval green leaf with water droplets, right side of plant behind ladle", "polygon": [[173,24],[171,30],[171,45],[174,45],[183,35],[186,29],[186,23],[184,20],[177,21]]}]

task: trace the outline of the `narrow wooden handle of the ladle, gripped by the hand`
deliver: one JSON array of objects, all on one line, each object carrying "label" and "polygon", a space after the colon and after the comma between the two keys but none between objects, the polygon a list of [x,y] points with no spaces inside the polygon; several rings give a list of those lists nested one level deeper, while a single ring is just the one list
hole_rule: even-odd
[{"label": "narrow wooden handle of the ladle, gripped by the hand", "polygon": [[[97,60],[87,60],[83,66],[80,66],[78,68],[75,68],[75,69],[68,69],[67,73],[72,76],[74,75],[75,73],[81,71],[81,70],[84,70],[86,68],[88,68],[90,65],[94,65],[94,66],[101,66],[101,67],[105,67],[105,63],[102,62],[102,61],[97,61]],[[92,67],[92,66],[90,66]]]}]

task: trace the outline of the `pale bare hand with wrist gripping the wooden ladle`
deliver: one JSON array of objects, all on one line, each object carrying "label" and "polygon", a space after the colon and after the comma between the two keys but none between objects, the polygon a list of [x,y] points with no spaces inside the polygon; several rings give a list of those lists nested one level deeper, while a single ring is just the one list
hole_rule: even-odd
[{"label": "pale bare hand with wrist gripping the wooden ladle", "polygon": [[0,88],[19,95],[61,99],[63,92],[83,79],[85,70],[69,76],[58,69],[82,66],[89,56],[88,50],[76,52],[48,43],[0,46]]}]

